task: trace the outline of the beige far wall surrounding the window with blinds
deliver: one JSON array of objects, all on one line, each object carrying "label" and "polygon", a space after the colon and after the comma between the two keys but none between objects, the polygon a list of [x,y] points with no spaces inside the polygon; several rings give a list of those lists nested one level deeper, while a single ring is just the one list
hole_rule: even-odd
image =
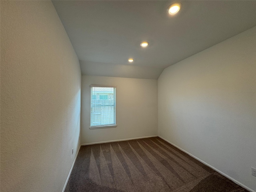
[{"label": "beige far wall surrounding the window with blinds", "polygon": [[[89,129],[90,84],[116,85],[116,128]],[[81,144],[157,135],[157,80],[82,76]]]}]

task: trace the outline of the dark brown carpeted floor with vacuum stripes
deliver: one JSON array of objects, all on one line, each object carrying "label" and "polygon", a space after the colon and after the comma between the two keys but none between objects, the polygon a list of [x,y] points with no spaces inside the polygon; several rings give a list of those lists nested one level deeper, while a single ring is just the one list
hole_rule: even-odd
[{"label": "dark brown carpeted floor with vacuum stripes", "polygon": [[247,192],[159,137],[81,146],[65,192]]}]

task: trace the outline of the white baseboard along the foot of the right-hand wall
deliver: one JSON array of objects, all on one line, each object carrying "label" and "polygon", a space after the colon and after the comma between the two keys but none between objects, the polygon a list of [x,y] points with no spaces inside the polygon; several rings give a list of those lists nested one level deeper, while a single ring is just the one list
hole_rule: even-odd
[{"label": "white baseboard along the foot of the right-hand wall", "polygon": [[196,156],[194,156],[194,155],[190,154],[189,152],[183,150],[182,148],[176,146],[175,144],[173,144],[172,142],[166,140],[165,138],[163,138],[163,137],[161,137],[161,136],[159,136],[159,135],[158,135],[158,137],[160,137],[161,139],[163,139],[163,140],[165,140],[166,142],[170,143],[171,145],[175,146],[176,148],[182,150],[183,152],[185,152],[185,153],[188,154],[189,156],[191,156],[191,157],[195,158],[196,160],[200,161],[201,163],[207,165],[208,167],[212,168],[212,169],[215,170],[216,172],[222,174],[222,175],[225,176],[226,178],[232,180],[232,181],[235,182],[236,184],[238,184],[238,185],[240,185],[241,187],[247,189],[248,191],[250,191],[250,192],[256,192],[256,191],[252,190],[251,188],[245,186],[244,184],[240,183],[239,181],[235,180],[234,178],[232,178],[232,177],[228,176],[227,174],[223,173],[222,171],[220,171],[220,170],[216,169],[215,167],[211,166],[210,164],[204,162],[203,160],[197,158]]}]

